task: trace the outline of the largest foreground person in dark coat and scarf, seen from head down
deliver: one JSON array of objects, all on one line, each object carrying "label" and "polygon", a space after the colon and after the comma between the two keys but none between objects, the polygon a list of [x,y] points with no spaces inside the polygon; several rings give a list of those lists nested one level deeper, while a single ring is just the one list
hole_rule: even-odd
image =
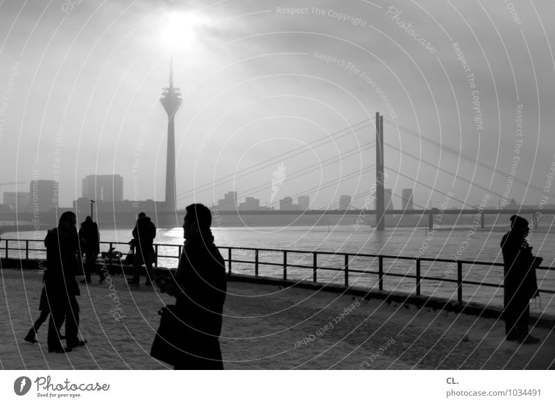
[{"label": "largest foreground person in dark coat and scarf, seen from head down", "polygon": [[[225,262],[210,231],[212,214],[200,203],[187,206],[183,248],[175,281],[157,278],[162,292],[176,296],[184,325],[175,369],[223,369],[219,336],[225,301]],[[172,282],[173,281],[173,282]]]}]

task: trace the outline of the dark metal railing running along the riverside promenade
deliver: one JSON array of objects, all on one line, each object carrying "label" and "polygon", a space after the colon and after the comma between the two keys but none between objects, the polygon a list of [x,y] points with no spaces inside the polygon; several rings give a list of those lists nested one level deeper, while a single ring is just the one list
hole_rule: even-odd
[{"label": "dark metal railing running along the riverside promenade", "polygon": [[[25,259],[28,260],[29,253],[31,251],[42,251],[45,252],[46,249],[31,249],[29,248],[29,242],[40,242],[40,240],[32,240],[32,239],[3,239],[4,242],[3,251],[4,256],[8,258],[8,251],[25,251]],[[10,247],[9,243],[17,242],[16,247]],[[25,247],[22,248],[20,244],[24,242]],[[101,242],[101,244],[108,245],[110,250],[114,249],[114,246],[125,245],[128,246],[126,242]],[[158,255],[160,251],[160,247],[172,247],[177,248],[178,255]],[[155,253],[157,258],[171,258],[175,259],[176,261],[179,259],[182,251],[182,245],[178,244],[154,244]],[[463,277],[463,265],[470,265],[471,267],[474,266],[486,266],[486,267],[503,267],[502,263],[499,262],[483,262],[483,261],[468,261],[468,260],[448,260],[443,258],[416,258],[416,257],[407,257],[407,256],[400,256],[400,255],[381,255],[381,254],[359,254],[359,253],[333,253],[328,251],[301,251],[301,250],[282,250],[282,249],[255,249],[255,248],[243,248],[243,247],[230,247],[230,246],[218,246],[220,250],[228,250],[227,258],[224,258],[225,262],[228,264],[228,273],[232,273],[233,264],[252,264],[254,266],[254,276],[259,276],[259,269],[262,265],[273,266],[273,267],[282,267],[283,275],[282,279],[287,280],[288,269],[290,268],[298,268],[298,269],[311,269],[312,271],[312,282],[318,282],[318,271],[343,271],[344,277],[344,285],[345,287],[350,286],[349,275],[350,273],[358,273],[364,275],[377,275],[377,286],[379,290],[384,290],[384,278],[386,276],[391,277],[398,277],[398,278],[409,278],[415,280],[415,289],[416,295],[421,295],[421,285],[422,281],[425,280],[434,280],[438,282],[446,282],[446,283],[456,283],[456,293],[457,293],[457,301],[463,301],[463,285],[474,285],[477,287],[492,287],[495,289],[502,288],[502,284],[496,283],[487,283],[487,282],[478,282],[475,280],[466,280],[466,277]],[[254,256],[254,260],[237,260],[233,259],[232,251],[252,251],[252,255]],[[265,262],[260,260],[260,253],[261,252],[269,252],[272,255],[280,255],[282,254],[283,260],[280,262]],[[126,255],[126,252],[122,252],[122,255]],[[312,255],[312,264],[294,264],[288,261],[288,254],[302,254],[306,257]],[[226,254],[223,254],[225,256]],[[268,254],[269,255],[269,254]],[[318,255],[321,256],[334,256],[334,257],[343,257],[343,265],[341,267],[323,267],[318,265]],[[44,256],[44,259],[46,256]],[[350,268],[349,265],[354,258],[373,258],[373,261],[370,264],[373,264],[377,259],[377,271],[369,270],[369,269],[353,269]],[[407,262],[414,262],[416,266],[415,274],[407,274],[407,273],[394,273],[391,271],[384,271],[384,260],[405,260]],[[443,263],[452,263],[456,264],[456,279],[452,278],[438,278],[436,276],[423,276],[421,273],[421,262],[443,262]],[[155,264],[157,267],[157,264]],[[177,266],[176,266],[177,267]],[[555,268],[552,267],[538,267],[540,270],[545,271],[554,271]],[[550,289],[539,289],[539,292],[546,293],[546,294],[555,294],[555,291]]]}]

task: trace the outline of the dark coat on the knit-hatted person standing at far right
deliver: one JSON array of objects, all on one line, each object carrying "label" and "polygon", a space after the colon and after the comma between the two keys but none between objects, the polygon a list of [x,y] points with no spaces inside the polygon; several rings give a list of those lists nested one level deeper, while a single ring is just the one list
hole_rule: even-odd
[{"label": "dark coat on the knit-hatted person standing at far right", "polygon": [[505,307],[525,307],[529,300],[538,296],[536,268],[539,266],[532,255],[532,247],[522,235],[506,233],[501,241],[504,262],[503,296]]}]

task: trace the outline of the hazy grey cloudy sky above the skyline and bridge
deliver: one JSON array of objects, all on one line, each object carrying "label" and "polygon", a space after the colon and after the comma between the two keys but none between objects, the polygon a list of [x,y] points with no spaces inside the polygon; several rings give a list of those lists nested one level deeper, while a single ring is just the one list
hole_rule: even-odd
[{"label": "hazy grey cloudy sky above the skyline and bridge", "polygon": [[[0,183],[119,174],[124,197],[164,199],[176,114],[178,207],[236,190],[262,205],[375,183],[400,206],[529,205],[555,167],[555,4],[541,1],[0,0]],[[367,207],[369,208],[369,207]]]}]

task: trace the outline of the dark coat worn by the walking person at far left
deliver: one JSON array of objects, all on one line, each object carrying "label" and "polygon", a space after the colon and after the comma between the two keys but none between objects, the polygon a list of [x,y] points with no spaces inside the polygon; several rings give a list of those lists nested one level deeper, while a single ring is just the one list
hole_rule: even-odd
[{"label": "dark coat worn by the walking person at far left", "polygon": [[60,228],[49,230],[44,239],[44,246],[47,270],[44,272],[43,280],[49,301],[67,298],[69,295],[78,296],[80,291],[75,279],[80,268],[77,260],[77,231],[67,234],[63,230],[60,231]]}]

